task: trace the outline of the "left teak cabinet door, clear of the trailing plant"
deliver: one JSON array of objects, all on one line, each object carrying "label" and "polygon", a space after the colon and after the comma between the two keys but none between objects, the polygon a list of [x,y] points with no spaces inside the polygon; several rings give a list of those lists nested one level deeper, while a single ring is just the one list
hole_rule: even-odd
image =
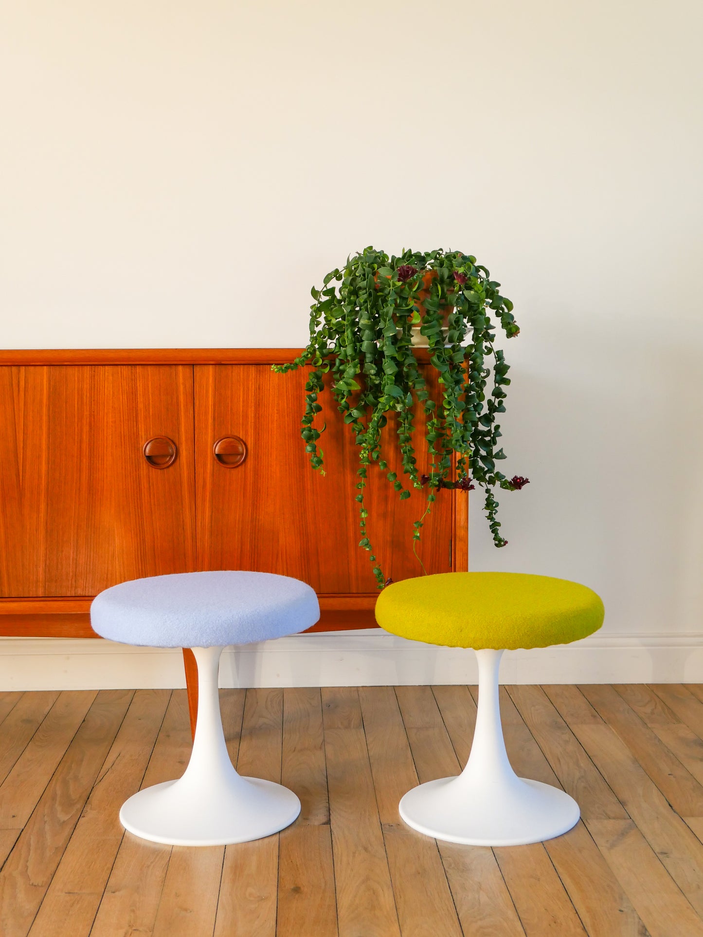
[{"label": "left teak cabinet door, clear of the trailing plant", "polygon": [[192,366],[0,367],[0,446],[0,595],[195,569]]}]

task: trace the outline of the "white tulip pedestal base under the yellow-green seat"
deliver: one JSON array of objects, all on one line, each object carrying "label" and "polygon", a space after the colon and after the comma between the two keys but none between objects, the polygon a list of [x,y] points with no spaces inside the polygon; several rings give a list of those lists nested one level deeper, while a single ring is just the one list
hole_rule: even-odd
[{"label": "white tulip pedestal base under the yellow-green seat", "polygon": [[541,781],[519,778],[507,758],[498,697],[502,650],[477,650],[478,711],[468,763],[457,778],[428,781],[403,796],[405,823],[437,840],[519,846],[561,836],[579,804]]}]

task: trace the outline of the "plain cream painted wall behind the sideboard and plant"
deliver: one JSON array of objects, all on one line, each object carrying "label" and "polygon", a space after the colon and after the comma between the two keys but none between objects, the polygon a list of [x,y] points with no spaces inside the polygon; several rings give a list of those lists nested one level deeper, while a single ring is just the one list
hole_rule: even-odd
[{"label": "plain cream painted wall behind the sideboard and plant", "polygon": [[5,347],[296,346],[348,252],[474,252],[532,482],[473,568],[703,632],[696,0],[2,9]]}]

